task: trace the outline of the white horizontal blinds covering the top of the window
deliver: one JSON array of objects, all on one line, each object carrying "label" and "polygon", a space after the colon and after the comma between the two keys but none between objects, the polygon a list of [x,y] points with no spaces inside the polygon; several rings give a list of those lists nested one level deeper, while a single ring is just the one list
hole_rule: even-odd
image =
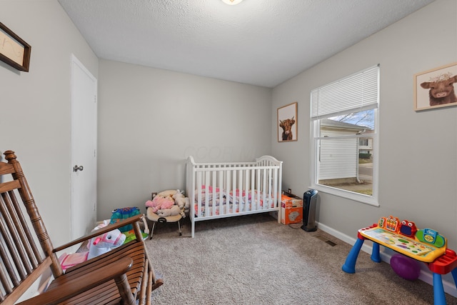
[{"label": "white horizontal blinds covering the top of the window", "polygon": [[379,101],[379,65],[311,91],[311,120],[375,109]]}]

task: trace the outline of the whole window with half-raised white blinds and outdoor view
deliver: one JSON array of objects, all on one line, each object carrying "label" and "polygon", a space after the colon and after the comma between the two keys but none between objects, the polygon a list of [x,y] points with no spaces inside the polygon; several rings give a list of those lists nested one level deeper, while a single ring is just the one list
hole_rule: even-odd
[{"label": "whole window with half-raised white blinds and outdoor view", "polygon": [[379,66],[311,91],[311,187],[378,206]]}]

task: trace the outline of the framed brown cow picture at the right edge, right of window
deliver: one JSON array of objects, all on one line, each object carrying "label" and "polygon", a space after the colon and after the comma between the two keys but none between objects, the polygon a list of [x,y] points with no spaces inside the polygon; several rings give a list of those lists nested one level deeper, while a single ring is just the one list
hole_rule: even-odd
[{"label": "framed brown cow picture at the right edge, right of window", "polygon": [[457,62],[414,75],[414,110],[457,106]]}]

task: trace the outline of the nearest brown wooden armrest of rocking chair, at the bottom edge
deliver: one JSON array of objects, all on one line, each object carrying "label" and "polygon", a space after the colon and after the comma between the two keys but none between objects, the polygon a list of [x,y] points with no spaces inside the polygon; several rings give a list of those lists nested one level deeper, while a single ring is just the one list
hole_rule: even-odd
[{"label": "nearest brown wooden armrest of rocking chair, at the bottom edge", "polygon": [[69,279],[68,281],[62,280],[60,281],[59,286],[56,286],[56,288],[45,291],[44,293],[39,294],[38,296],[34,296],[33,298],[23,301],[19,304],[58,304],[61,301],[70,299],[71,297],[76,296],[83,291],[87,291],[100,284],[104,284],[106,281],[110,281],[111,279],[114,279],[116,284],[118,284],[118,281],[125,282],[123,284],[126,284],[125,287],[127,291],[119,291],[119,293],[121,296],[130,294],[130,298],[127,296],[127,298],[130,300],[126,302],[126,304],[129,304],[129,302],[133,300],[133,295],[131,295],[129,282],[125,276],[125,273],[131,269],[132,264],[133,260],[129,256],[123,257],[122,259],[119,259],[119,261],[115,261],[99,269],[94,269],[93,271],[77,278]]}]

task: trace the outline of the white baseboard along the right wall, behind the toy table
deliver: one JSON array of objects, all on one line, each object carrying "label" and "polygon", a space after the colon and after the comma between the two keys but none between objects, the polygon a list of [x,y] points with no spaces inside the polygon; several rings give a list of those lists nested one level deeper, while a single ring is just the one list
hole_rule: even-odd
[{"label": "white baseboard along the right wall, behind the toy table", "polygon": [[[331,234],[332,236],[335,236],[337,239],[341,239],[342,241],[348,243],[348,244],[355,244],[356,243],[356,238],[347,236],[346,234],[342,234],[340,231],[336,231],[335,229],[331,228],[330,226],[326,226],[325,224],[318,224],[318,229],[321,229],[322,231]],[[357,232],[354,232],[354,235],[356,235]],[[384,248],[384,247],[381,247]],[[362,251],[366,252],[368,254],[371,254],[371,243],[366,244],[363,243],[362,246]],[[391,256],[392,253],[395,253],[391,251],[390,249],[386,249],[387,251],[381,251],[381,260],[385,261],[387,264],[390,264],[391,261]],[[343,266],[344,262],[341,262],[341,266]],[[423,267],[423,268],[422,268]],[[419,275],[419,279],[421,281],[426,282],[427,284],[430,284],[433,286],[433,274],[428,268],[425,266],[425,264],[421,264],[421,274]],[[453,277],[451,274],[446,274],[443,276],[443,288],[444,291],[447,294],[451,294],[451,296],[454,296],[457,298],[457,289],[456,289],[456,284],[453,281]]]}]

